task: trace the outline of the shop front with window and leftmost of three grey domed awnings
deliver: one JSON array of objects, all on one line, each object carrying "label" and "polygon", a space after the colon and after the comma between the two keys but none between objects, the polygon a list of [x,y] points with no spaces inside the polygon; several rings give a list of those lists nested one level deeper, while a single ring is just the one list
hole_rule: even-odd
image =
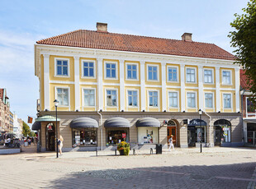
[{"label": "shop front with window and leftmost of three grey domed awnings", "polygon": [[72,147],[97,147],[98,123],[92,118],[75,118],[70,122]]}]

